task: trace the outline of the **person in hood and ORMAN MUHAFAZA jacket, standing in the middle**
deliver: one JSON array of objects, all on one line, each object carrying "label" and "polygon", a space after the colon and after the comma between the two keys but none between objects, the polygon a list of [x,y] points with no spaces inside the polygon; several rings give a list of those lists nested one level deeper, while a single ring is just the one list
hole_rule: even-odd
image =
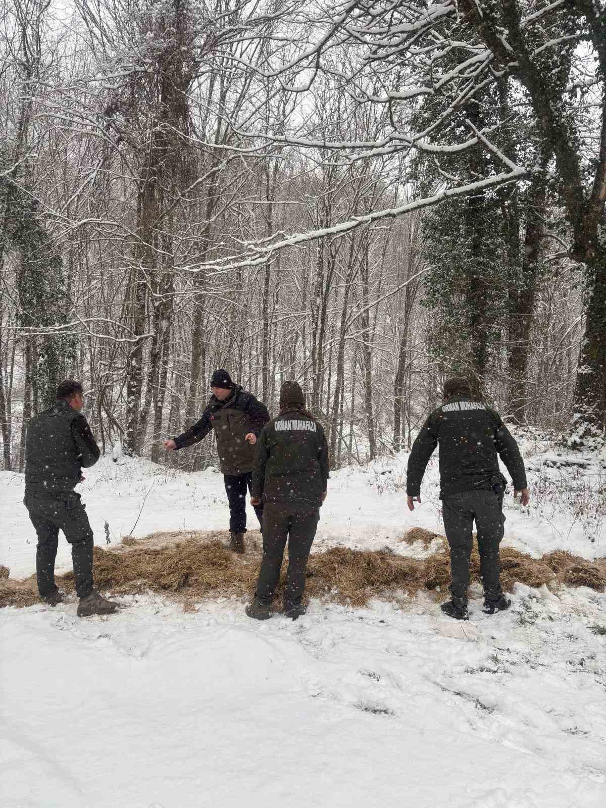
[{"label": "person in hood and ORMAN MUHAFAZA jacket, standing in the middle", "polygon": [[256,620],[271,617],[287,538],[284,613],[292,620],[305,614],[305,570],[326,499],[329,462],[324,429],[304,407],[301,387],[296,381],[284,382],[280,415],[263,427],[257,444],[250,501],[264,503],[263,561],[255,600],[246,607]]}]

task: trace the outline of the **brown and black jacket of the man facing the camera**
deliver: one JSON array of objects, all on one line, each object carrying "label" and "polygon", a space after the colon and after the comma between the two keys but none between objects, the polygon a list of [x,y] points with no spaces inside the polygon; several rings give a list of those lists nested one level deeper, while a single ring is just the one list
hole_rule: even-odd
[{"label": "brown and black jacket of the man facing the camera", "polygon": [[259,437],[268,420],[269,413],[263,402],[257,401],[241,385],[236,385],[224,402],[213,394],[200,420],[173,440],[177,448],[182,449],[204,440],[214,429],[221,473],[246,474],[253,470],[255,448],[244,440],[244,436],[253,432]]}]

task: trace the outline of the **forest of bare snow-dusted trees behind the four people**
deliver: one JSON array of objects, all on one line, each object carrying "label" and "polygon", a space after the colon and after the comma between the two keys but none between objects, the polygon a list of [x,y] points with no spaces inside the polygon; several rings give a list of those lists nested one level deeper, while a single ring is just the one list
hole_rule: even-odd
[{"label": "forest of bare snow-dusted trees behind the four people", "polygon": [[300,381],[335,467],[453,373],[600,443],[603,2],[6,0],[0,39],[4,469],[64,377],[164,462],[218,367]]}]

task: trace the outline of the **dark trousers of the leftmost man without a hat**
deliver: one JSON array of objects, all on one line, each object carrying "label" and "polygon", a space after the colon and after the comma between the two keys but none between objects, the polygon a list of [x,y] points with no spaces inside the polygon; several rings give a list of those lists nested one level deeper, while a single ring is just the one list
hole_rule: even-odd
[{"label": "dark trousers of the leftmost man without a hat", "polygon": [[29,511],[38,545],[36,576],[41,597],[56,589],[55,558],[59,531],[72,545],[72,562],[78,597],[86,598],[93,588],[93,532],[82,505],[80,494],[38,494],[26,491],[23,504]]}]

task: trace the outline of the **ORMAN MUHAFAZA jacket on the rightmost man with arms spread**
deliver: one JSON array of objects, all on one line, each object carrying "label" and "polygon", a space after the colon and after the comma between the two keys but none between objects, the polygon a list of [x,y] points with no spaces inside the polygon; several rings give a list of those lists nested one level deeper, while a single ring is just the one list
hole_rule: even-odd
[{"label": "ORMAN MUHAFAZA jacket on the rightmost man with arms spread", "polygon": [[455,396],[431,413],[413,444],[408,458],[408,496],[419,496],[427,462],[438,444],[440,497],[489,490],[506,482],[497,452],[514,488],[519,491],[527,485],[520,449],[499,413],[471,398]]}]

